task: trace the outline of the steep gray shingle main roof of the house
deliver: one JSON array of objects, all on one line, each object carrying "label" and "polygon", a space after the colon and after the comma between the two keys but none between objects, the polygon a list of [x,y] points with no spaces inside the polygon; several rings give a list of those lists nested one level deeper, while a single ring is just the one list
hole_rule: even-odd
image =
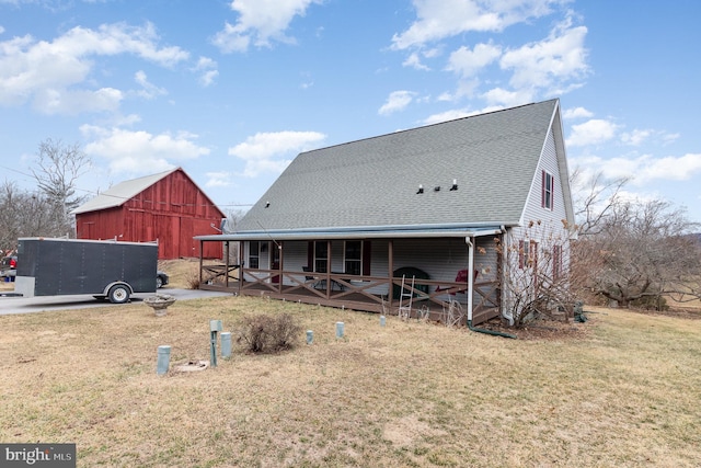
[{"label": "steep gray shingle main roof of the house", "polygon": [[302,152],[237,231],[515,225],[558,106],[551,100]]}]

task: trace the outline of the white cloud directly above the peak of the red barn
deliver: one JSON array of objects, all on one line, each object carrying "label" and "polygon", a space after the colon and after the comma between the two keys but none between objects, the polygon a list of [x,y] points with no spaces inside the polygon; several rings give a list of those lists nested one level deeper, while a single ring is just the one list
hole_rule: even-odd
[{"label": "white cloud directly above the peak of the red barn", "polygon": [[186,132],[153,135],[143,130],[91,125],[83,125],[80,130],[92,140],[84,146],[85,152],[106,159],[111,173],[150,174],[177,165],[171,161],[209,155],[208,148],[195,144],[197,136]]}]

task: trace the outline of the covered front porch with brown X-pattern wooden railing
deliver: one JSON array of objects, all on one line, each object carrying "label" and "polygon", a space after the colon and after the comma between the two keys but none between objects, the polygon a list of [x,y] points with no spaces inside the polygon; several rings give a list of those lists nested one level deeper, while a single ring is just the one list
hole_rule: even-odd
[{"label": "covered front porch with brown X-pattern wooden railing", "polygon": [[[203,248],[205,242],[223,242],[225,248],[221,262],[200,259],[199,284],[202,289],[383,315],[398,315],[401,308],[412,318],[439,321],[457,301],[463,322],[469,312],[478,324],[501,312],[496,243],[502,236],[501,229],[485,228],[371,238],[199,237]],[[230,262],[231,249],[238,249],[240,262]]]}]

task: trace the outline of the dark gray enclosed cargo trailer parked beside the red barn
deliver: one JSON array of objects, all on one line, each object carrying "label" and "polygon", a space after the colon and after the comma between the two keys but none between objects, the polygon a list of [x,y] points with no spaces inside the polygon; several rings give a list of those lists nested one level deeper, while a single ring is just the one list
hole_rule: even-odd
[{"label": "dark gray enclosed cargo trailer parked beside the red barn", "polygon": [[123,304],[156,292],[158,243],[20,238],[14,290],[24,297],[90,294]]}]

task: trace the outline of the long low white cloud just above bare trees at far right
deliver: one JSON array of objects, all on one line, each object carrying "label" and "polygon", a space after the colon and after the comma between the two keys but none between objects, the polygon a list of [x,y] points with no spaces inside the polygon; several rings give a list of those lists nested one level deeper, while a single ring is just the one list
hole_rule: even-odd
[{"label": "long low white cloud just above bare trees at far right", "polygon": [[634,155],[604,159],[598,156],[571,158],[574,165],[584,169],[583,176],[602,172],[608,178],[630,178],[630,183],[645,186],[654,181],[686,181],[701,173],[701,153],[680,157],[654,158]]}]

